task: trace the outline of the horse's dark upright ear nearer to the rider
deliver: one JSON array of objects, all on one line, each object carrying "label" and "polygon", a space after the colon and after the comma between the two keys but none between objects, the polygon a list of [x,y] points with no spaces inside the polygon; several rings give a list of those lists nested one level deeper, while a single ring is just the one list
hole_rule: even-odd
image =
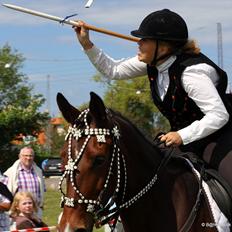
[{"label": "horse's dark upright ear nearer to the rider", "polygon": [[90,92],[90,96],[89,111],[98,122],[106,120],[106,107],[102,99],[94,92]]}]

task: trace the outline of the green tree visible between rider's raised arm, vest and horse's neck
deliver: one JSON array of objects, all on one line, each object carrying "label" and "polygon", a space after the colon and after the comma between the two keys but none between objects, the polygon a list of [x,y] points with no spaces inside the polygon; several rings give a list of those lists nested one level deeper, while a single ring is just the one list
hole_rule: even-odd
[{"label": "green tree visible between rider's raised arm, vest and horse's neck", "polygon": [[153,104],[146,76],[109,82],[97,74],[94,80],[107,85],[105,104],[131,120],[146,136],[169,129],[168,121]]}]

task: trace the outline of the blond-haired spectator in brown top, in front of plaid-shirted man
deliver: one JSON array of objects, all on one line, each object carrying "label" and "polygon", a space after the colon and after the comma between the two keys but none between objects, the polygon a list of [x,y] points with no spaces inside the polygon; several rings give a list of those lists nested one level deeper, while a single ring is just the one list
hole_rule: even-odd
[{"label": "blond-haired spectator in brown top, in front of plaid-shirted man", "polygon": [[30,192],[17,192],[11,206],[11,217],[15,222],[15,229],[47,227],[47,224],[37,217],[37,210],[36,201]]}]

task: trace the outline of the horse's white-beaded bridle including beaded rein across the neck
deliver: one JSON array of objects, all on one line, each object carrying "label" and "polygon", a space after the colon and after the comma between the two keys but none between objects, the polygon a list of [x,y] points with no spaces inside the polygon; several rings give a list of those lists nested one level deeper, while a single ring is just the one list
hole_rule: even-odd
[{"label": "horse's white-beaded bridle including beaded rein across the neck", "polygon": [[[138,199],[140,199],[146,192],[151,189],[151,187],[154,185],[154,183],[157,181],[157,174],[154,175],[154,177],[151,179],[151,181],[143,188],[141,189],[136,195],[134,195],[132,198],[130,198],[127,201],[124,201],[125,193],[126,193],[126,186],[127,186],[127,168],[126,168],[126,162],[124,155],[120,151],[119,147],[119,138],[120,138],[120,131],[117,125],[113,125],[112,129],[107,128],[90,128],[87,122],[87,115],[88,115],[89,109],[86,109],[80,113],[80,115],[77,118],[77,122],[83,121],[85,128],[79,129],[77,123],[70,126],[68,129],[68,133],[65,137],[65,140],[68,141],[68,161],[65,165],[64,173],[60,179],[59,182],[59,190],[62,193],[61,197],[61,206],[68,206],[68,207],[75,207],[75,204],[86,204],[86,212],[91,213],[94,215],[95,221],[101,222],[105,220],[110,214],[109,205],[112,203],[103,204],[101,196],[103,192],[106,191],[109,185],[110,176],[112,175],[113,165],[116,164],[117,167],[117,173],[116,173],[116,184],[115,184],[115,190],[114,190],[114,196],[117,196],[119,194],[119,190],[121,189],[121,177],[124,175],[124,185],[123,185],[123,193],[121,198],[121,204],[117,207],[117,214],[118,211],[122,208],[128,208],[132,204],[134,204]],[[106,109],[106,113],[109,114],[109,110]],[[110,114],[112,117],[112,115]],[[80,190],[77,188],[77,185],[75,183],[75,177],[74,172],[78,169],[78,164],[84,154],[84,150],[89,142],[89,139],[92,136],[96,136],[97,141],[99,143],[105,143],[105,137],[106,136],[112,136],[113,138],[113,152],[111,155],[110,165],[108,174],[105,180],[105,184],[103,186],[103,189],[99,193],[97,199],[87,199],[83,193],[80,192]],[[86,137],[85,141],[79,151],[75,151],[75,158],[72,158],[72,139],[75,139],[78,141],[80,138]],[[123,163],[123,173],[121,171],[121,161]],[[77,174],[78,175],[78,174]],[[71,181],[72,188],[79,196],[79,199],[74,199],[73,197],[68,197],[65,195],[65,193],[62,190],[62,183],[65,179],[65,177],[69,177]],[[106,211],[106,212],[105,212]],[[101,212],[101,213],[99,213]],[[104,213],[102,213],[104,212]],[[110,220],[110,219],[109,219]],[[101,224],[101,223],[100,223]]]}]

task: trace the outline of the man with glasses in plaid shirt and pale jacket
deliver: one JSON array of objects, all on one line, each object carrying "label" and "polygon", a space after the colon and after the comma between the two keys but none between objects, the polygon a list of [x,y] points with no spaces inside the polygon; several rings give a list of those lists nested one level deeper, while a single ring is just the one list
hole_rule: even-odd
[{"label": "man with glasses in plaid shirt and pale jacket", "polygon": [[20,150],[19,159],[4,173],[8,177],[7,187],[13,195],[17,192],[31,192],[39,206],[38,217],[42,218],[45,183],[42,170],[34,162],[31,147]]}]

